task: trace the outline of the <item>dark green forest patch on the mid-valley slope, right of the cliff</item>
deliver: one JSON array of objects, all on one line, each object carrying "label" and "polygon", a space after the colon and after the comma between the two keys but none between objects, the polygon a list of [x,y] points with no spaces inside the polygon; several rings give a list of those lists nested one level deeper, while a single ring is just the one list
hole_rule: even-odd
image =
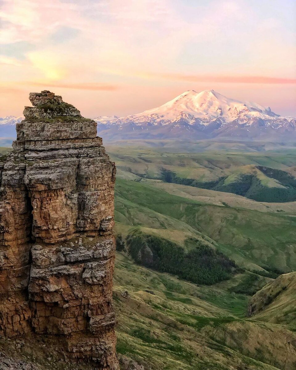
[{"label": "dark green forest patch on the mid-valley slope, right of the cliff", "polygon": [[126,242],[137,263],[196,284],[211,285],[238,271],[235,262],[198,239],[190,239],[188,252],[176,243],[137,229],[128,234]]}]

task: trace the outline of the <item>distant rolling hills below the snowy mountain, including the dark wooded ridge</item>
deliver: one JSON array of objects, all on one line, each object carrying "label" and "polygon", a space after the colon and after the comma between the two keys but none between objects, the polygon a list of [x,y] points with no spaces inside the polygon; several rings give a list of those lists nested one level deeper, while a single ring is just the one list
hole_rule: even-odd
[{"label": "distant rolling hills below the snowy mountain, including the dark wooded ridge", "polygon": [[[256,201],[296,200],[295,175],[282,172],[295,165],[295,150],[283,154],[223,150],[180,153],[143,147],[108,149],[117,164],[118,175],[126,179],[163,178],[167,172],[173,174],[173,179],[166,179],[167,182],[192,183],[200,188],[231,192]],[[266,172],[265,167],[272,171]],[[289,176],[294,179],[293,184]]]}]

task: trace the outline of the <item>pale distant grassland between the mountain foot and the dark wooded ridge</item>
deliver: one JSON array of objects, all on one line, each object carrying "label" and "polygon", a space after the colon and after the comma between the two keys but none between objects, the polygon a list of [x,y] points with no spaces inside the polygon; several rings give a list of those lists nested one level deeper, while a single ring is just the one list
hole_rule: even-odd
[{"label": "pale distant grassland between the mountain foot and the dark wooded ridge", "polygon": [[107,147],[120,175],[140,174],[148,178],[159,176],[161,168],[176,172],[181,178],[211,181],[229,176],[240,166],[261,165],[287,169],[296,163],[296,151],[285,152],[226,152],[199,153],[167,152],[159,148]]}]

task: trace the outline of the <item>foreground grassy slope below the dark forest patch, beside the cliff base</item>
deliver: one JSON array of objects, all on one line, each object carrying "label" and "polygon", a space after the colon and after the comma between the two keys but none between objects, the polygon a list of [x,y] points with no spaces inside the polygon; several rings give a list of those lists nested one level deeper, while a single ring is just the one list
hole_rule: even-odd
[{"label": "foreground grassy slope below the dark forest patch, beside the cliff base", "polygon": [[[125,253],[117,253],[118,353],[155,370],[292,370],[296,352],[287,337],[296,340],[296,334],[279,325],[243,319],[248,297],[233,294],[230,288],[244,276],[197,286],[134,265]],[[130,299],[121,296],[125,290]],[[286,359],[288,351],[291,356]]]}]

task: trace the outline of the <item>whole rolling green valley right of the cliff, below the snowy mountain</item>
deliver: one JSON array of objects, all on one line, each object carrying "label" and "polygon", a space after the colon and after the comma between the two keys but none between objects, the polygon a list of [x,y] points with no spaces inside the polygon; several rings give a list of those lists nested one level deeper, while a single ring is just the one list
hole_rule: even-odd
[{"label": "whole rolling green valley right of the cliff, below the snowy mountain", "polygon": [[[254,294],[253,300],[264,294],[263,287],[270,290],[266,287],[277,276],[288,273],[280,275],[286,279],[296,269],[296,202],[256,201],[225,188],[162,181],[161,175],[167,171],[225,187],[243,170],[255,172],[266,187],[293,187],[296,152],[176,153],[148,144],[109,149],[118,168],[115,230],[125,240],[125,251],[117,252],[114,281],[120,357],[159,370],[294,369],[289,293],[281,290],[287,295],[280,302],[289,301],[285,306],[272,288],[275,301],[268,298],[263,310],[251,317],[247,313]],[[190,253],[196,246],[209,248],[211,258],[200,254],[195,260]],[[227,260],[233,265],[222,277],[219,264]],[[211,276],[206,266],[216,267],[216,282],[194,280]],[[121,294],[125,291],[128,297]]]}]

